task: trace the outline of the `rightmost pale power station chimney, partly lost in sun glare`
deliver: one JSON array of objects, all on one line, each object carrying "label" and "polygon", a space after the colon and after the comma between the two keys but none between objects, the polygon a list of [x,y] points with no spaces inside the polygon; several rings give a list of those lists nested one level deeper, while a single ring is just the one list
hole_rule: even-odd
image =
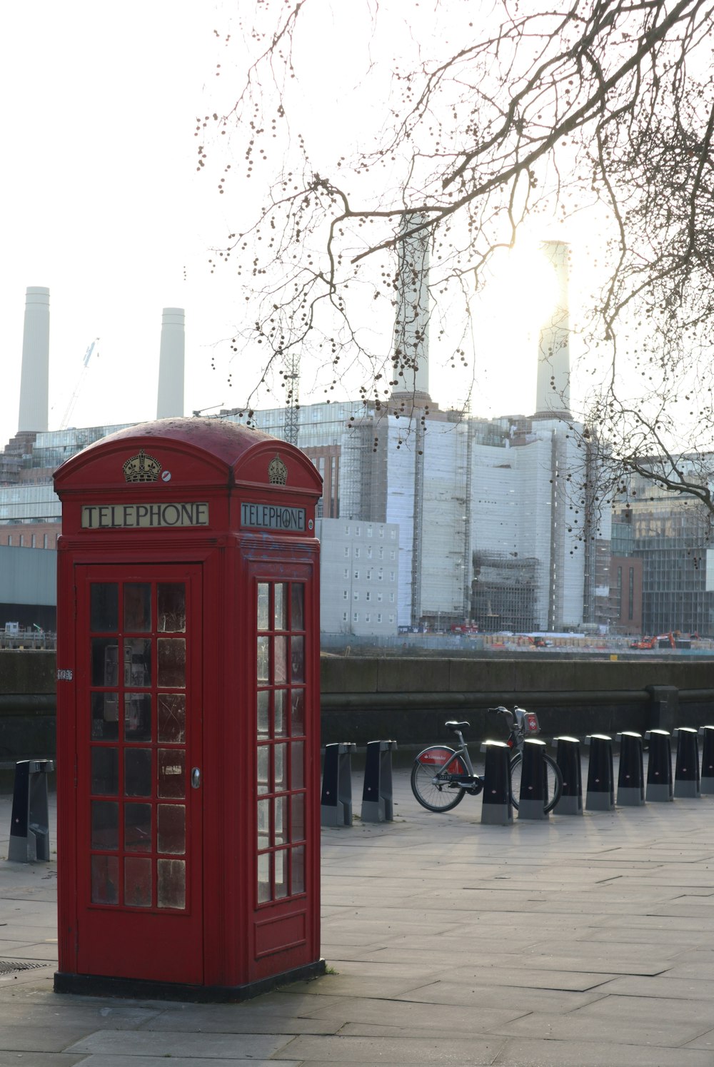
[{"label": "rightmost pale power station chimney, partly lost in sun glare", "polygon": [[541,249],[553,265],[558,285],[555,307],[540,331],[536,418],[570,415],[570,322],[568,312],[568,257],[565,241],[543,241]]}]

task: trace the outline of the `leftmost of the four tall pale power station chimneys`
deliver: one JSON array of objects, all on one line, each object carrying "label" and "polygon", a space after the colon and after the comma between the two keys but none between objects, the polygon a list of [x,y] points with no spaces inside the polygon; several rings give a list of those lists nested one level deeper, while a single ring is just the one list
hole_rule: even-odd
[{"label": "leftmost of the four tall pale power station chimneys", "polygon": [[28,286],[22,333],[18,431],[47,430],[49,403],[49,289]]}]

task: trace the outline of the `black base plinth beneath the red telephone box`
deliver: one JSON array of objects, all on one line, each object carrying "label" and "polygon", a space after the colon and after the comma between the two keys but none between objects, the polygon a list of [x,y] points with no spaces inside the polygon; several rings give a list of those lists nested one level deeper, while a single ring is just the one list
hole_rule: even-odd
[{"label": "black base plinth beneath the red telephone box", "polygon": [[324,974],[326,964],[295,967],[291,971],[249,982],[244,986],[191,986],[177,982],[147,982],[145,978],[113,978],[102,974],[54,974],[55,993],[76,993],[81,997],[123,997],[131,1000],[189,1001],[194,1004],[231,1004],[251,1000],[270,992],[279,986],[316,978]]}]

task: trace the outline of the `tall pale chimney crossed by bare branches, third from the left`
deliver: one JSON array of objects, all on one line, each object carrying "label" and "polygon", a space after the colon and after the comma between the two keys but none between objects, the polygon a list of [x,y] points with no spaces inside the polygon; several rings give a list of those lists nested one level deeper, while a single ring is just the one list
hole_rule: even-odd
[{"label": "tall pale chimney crossed by bare branches, third from the left", "polygon": [[[401,233],[409,233],[428,216],[404,216]],[[394,377],[399,384],[392,395],[429,398],[429,243],[431,232],[419,230],[397,243],[399,289],[394,324]],[[399,373],[401,371],[401,373]]]}]

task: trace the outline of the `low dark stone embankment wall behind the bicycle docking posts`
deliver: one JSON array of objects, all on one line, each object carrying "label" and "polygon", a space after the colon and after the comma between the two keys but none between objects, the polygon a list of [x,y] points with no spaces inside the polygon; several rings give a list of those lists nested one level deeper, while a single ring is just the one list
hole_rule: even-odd
[{"label": "low dark stone embankment wall behind the bicycle docking posts", "polygon": [[[54,755],[55,655],[0,651],[0,766]],[[543,733],[617,733],[714,722],[714,660],[660,658],[480,659],[338,658],[321,660],[322,744],[400,747],[445,740],[444,721],[467,719],[477,744],[497,734],[495,704],[538,712]]]}]

